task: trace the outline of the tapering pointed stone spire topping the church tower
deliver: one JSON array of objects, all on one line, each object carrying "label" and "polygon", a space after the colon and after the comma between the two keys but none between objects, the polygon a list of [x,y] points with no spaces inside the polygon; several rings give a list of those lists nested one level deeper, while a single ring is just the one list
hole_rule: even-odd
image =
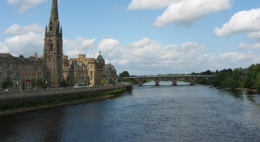
[{"label": "tapering pointed stone spire topping the church tower", "polygon": [[59,33],[60,32],[60,22],[58,17],[58,2],[57,0],[52,0],[50,21],[49,21],[49,33]]}]

